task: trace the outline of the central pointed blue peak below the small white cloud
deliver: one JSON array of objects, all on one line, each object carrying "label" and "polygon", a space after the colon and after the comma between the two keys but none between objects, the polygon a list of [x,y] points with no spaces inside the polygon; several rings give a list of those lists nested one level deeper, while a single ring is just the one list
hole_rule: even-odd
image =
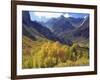
[{"label": "central pointed blue peak below the small white cloud", "polygon": [[63,15],[58,18],[52,18],[48,20],[46,22],[46,26],[55,32],[55,34],[59,34],[60,32],[69,31],[75,28]]}]

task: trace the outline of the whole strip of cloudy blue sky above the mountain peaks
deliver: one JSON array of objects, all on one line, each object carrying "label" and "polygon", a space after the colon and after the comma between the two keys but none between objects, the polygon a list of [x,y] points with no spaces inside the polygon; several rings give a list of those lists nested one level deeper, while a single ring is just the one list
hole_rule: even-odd
[{"label": "whole strip of cloudy blue sky above the mountain peaks", "polygon": [[66,13],[57,13],[57,12],[34,12],[34,11],[30,11],[30,17],[31,17],[32,21],[36,20],[36,21],[44,21],[44,22],[46,22],[48,19],[58,18],[61,15],[63,15],[66,18],[68,18],[68,17],[85,18],[89,14],[68,13],[68,12],[66,12]]}]

